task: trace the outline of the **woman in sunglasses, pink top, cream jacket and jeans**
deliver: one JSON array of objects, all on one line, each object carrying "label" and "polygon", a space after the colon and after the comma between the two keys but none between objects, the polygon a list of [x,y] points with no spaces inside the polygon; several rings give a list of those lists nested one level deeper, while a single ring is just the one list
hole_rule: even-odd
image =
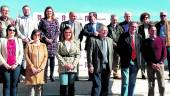
[{"label": "woman in sunglasses, pink top, cream jacket and jeans", "polygon": [[17,96],[21,62],[23,58],[22,40],[17,38],[17,30],[8,25],[6,38],[0,38],[0,65],[2,65],[3,96]]}]

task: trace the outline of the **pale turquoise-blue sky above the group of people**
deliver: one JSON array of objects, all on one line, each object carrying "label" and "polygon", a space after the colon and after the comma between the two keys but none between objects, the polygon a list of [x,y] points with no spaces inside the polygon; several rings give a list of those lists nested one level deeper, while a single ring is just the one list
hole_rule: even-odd
[{"label": "pale turquoise-blue sky above the group of people", "polygon": [[151,20],[154,21],[159,20],[160,11],[170,14],[170,0],[0,0],[0,6],[7,5],[9,7],[9,14],[12,18],[22,15],[21,9],[25,4],[31,7],[32,13],[44,12],[47,6],[52,6],[56,13],[96,11],[116,14],[120,20],[123,20],[125,11],[131,12],[132,19],[135,21],[139,21],[139,16],[143,12],[149,12]]}]

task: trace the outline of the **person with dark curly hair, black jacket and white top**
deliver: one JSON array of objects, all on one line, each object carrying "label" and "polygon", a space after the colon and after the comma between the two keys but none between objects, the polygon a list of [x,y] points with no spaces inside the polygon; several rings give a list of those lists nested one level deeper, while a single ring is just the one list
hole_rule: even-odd
[{"label": "person with dark curly hair, black jacket and white top", "polygon": [[[145,40],[145,39],[149,38],[148,30],[149,30],[149,26],[150,26],[150,14],[147,12],[142,13],[140,16],[140,21],[141,21],[142,25],[139,26],[138,33],[142,36],[142,40]],[[141,57],[142,79],[146,79],[145,69],[146,69],[146,62],[143,59],[143,57]]]}]

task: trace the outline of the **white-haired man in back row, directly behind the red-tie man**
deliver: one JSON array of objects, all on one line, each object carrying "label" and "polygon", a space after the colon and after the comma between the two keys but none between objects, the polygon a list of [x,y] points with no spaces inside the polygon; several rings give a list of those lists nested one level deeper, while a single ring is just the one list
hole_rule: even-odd
[{"label": "white-haired man in back row, directly behind the red-tie man", "polygon": [[120,26],[122,26],[124,32],[128,32],[129,29],[129,23],[131,22],[132,14],[130,12],[124,13],[124,19],[125,21],[120,23]]}]

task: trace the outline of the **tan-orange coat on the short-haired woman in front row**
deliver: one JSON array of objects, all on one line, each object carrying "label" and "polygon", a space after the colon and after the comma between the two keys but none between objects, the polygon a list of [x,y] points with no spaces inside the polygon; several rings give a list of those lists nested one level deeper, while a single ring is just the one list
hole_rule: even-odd
[{"label": "tan-orange coat on the short-haired woman in front row", "polygon": [[[40,46],[28,44],[25,48],[26,67],[26,84],[37,85],[44,84],[44,70],[48,58],[47,47],[40,43]],[[40,68],[42,71],[36,75],[32,74],[32,68]]]}]

